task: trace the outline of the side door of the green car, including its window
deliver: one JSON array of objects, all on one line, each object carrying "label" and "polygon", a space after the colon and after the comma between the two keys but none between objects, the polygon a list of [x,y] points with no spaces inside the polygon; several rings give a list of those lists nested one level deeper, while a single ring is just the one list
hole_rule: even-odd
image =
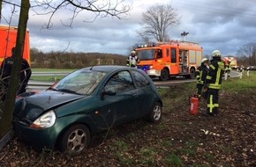
[{"label": "side door of the green car, including its window", "polygon": [[135,90],[129,71],[113,74],[102,89],[99,113],[103,115],[106,125],[116,125],[135,118],[139,106],[138,90]]}]

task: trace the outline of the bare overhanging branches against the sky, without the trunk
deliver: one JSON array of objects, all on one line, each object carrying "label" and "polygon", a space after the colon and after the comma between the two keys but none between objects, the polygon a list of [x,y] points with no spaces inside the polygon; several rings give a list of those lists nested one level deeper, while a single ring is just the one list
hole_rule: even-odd
[{"label": "bare overhanging branches against the sky, without the trunk", "polygon": [[[61,19],[61,23],[66,26],[72,26],[74,19],[79,16],[83,11],[87,11],[88,14],[93,14],[94,16],[85,18],[83,21],[92,23],[96,18],[104,18],[107,16],[115,18],[124,18],[128,11],[131,11],[131,4],[124,4],[124,0],[63,0],[56,1],[53,0],[35,0],[32,10],[38,15],[49,16],[49,21],[43,28],[50,28],[53,25],[52,19],[58,11],[66,11],[66,16],[69,16],[67,22]],[[39,9],[40,8],[40,9]],[[41,10],[42,9],[42,10]]]}]

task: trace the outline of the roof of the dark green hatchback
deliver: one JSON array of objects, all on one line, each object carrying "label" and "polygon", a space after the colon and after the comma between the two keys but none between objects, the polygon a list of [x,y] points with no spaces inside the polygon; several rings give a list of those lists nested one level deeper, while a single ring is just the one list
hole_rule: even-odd
[{"label": "roof of the dark green hatchback", "polygon": [[94,70],[94,71],[102,71],[102,72],[112,72],[118,69],[129,69],[126,66],[118,66],[118,65],[102,65],[102,66],[92,66],[87,67],[81,70]]}]

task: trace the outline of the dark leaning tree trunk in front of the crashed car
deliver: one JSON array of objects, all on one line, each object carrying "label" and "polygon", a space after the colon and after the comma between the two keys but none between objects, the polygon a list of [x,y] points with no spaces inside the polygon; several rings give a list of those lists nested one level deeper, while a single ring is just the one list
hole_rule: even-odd
[{"label": "dark leaning tree trunk in front of the crashed car", "polygon": [[16,92],[18,90],[19,85],[19,71],[21,69],[23,46],[26,34],[26,23],[28,20],[29,8],[29,0],[22,0],[19,13],[19,25],[16,39],[14,62],[11,69],[11,79],[9,89],[7,91],[7,97],[4,101],[4,111],[3,113],[0,113],[0,139],[3,138],[4,135],[8,133],[8,131],[11,130],[12,113],[14,109]]}]

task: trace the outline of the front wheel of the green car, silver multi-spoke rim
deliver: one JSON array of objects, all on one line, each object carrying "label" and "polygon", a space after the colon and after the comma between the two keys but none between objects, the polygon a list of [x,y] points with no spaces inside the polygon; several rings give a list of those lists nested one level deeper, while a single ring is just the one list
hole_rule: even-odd
[{"label": "front wheel of the green car, silver multi-spoke rim", "polygon": [[59,141],[59,149],[72,155],[85,151],[91,140],[90,131],[82,124],[68,128]]}]

